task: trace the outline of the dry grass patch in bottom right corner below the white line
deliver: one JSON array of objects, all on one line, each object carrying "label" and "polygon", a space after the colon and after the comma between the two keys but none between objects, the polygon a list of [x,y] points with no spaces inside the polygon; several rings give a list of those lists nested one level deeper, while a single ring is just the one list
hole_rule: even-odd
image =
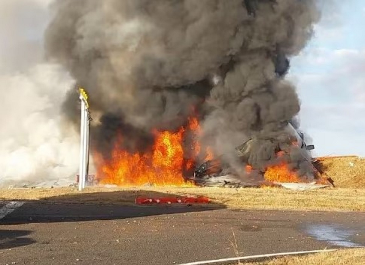
[{"label": "dry grass patch in bottom right corner below the white line", "polygon": [[310,254],[296,257],[283,257],[270,261],[239,263],[239,265],[363,265],[365,264],[365,248],[344,249],[335,252]]}]

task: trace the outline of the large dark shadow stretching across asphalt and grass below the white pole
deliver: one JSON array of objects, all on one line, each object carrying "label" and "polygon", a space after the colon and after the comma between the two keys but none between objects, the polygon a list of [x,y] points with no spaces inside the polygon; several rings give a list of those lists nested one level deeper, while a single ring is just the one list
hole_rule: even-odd
[{"label": "large dark shadow stretching across asphalt and grass below the white pole", "polygon": [[115,220],[226,208],[223,204],[215,203],[136,205],[135,198],[138,196],[179,197],[176,194],[130,190],[66,194],[39,201],[27,201],[28,203],[0,220],[0,224]]}]

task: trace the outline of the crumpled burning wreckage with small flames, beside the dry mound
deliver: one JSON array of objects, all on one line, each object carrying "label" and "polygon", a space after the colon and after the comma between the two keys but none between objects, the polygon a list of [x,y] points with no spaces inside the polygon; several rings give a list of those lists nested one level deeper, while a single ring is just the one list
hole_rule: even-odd
[{"label": "crumpled burning wreckage with small flames, beside the dry mound", "polygon": [[[283,184],[280,182],[280,172],[276,172],[276,176],[273,179],[267,177],[268,165],[262,167],[260,163],[255,162],[254,154],[251,152],[251,149],[254,146],[261,145],[262,147],[266,148],[269,143],[270,148],[273,148],[273,154],[275,154],[276,159],[273,159],[268,155],[266,157],[267,161],[271,161],[271,163],[281,164],[284,166],[284,175],[285,180],[290,182],[302,182],[302,186],[296,187],[287,187],[287,188],[295,188],[295,189],[308,189],[306,185],[308,184],[325,184],[322,185],[323,187],[328,186],[329,184],[334,186],[333,180],[331,178],[321,179],[321,175],[324,174],[319,168],[317,164],[317,160],[312,157],[311,150],[314,149],[314,145],[307,145],[304,140],[304,134],[299,130],[295,129],[291,122],[288,122],[284,129],[288,134],[288,142],[290,143],[288,146],[283,146],[282,143],[272,137],[253,137],[247,140],[245,143],[239,145],[235,148],[237,159],[239,163],[246,164],[244,169],[240,169],[239,171],[245,171],[244,175],[247,177],[254,176],[255,179],[259,179],[259,181],[253,182],[244,182],[241,178],[242,173],[237,171],[234,167],[231,167],[229,163],[224,162],[224,156],[220,156],[219,158],[215,158],[212,160],[207,160],[203,164],[200,164],[196,167],[194,171],[193,178],[191,179],[196,185],[199,186],[226,186],[226,187],[258,187],[262,184],[266,185],[276,185],[276,184]],[[290,172],[289,165],[285,162],[285,156],[289,155],[287,148],[296,148],[297,149],[297,156],[298,159],[301,161],[306,162],[306,166],[309,167],[309,171],[311,172],[311,177],[308,182],[305,179],[300,179],[300,176],[297,172],[292,171]],[[270,152],[268,152],[270,153]],[[303,162],[301,162],[303,163]],[[264,163],[265,164],[265,163]],[[253,166],[254,165],[254,166]],[[303,165],[301,165],[303,167]],[[271,164],[271,167],[275,167]],[[280,167],[280,166],[279,166]],[[293,175],[294,179],[290,179],[290,174]],[[288,177],[289,176],[289,177]],[[270,182],[271,181],[271,182]],[[277,182],[280,183],[277,183]],[[284,181],[283,181],[284,182]],[[307,184],[306,184],[307,182]],[[321,188],[322,186],[318,186]]]}]

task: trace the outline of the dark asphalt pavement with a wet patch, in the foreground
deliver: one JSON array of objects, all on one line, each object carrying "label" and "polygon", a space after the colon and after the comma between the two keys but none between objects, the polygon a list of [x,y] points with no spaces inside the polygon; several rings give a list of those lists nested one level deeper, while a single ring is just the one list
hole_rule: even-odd
[{"label": "dark asphalt pavement with a wet patch, in the foreground", "polygon": [[365,246],[360,212],[9,203],[0,202],[4,265],[164,265]]}]

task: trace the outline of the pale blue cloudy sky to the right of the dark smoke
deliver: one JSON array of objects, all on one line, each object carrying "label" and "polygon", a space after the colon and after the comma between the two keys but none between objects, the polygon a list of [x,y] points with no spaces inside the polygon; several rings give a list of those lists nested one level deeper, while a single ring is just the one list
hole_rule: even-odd
[{"label": "pale blue cloudy sky to the right of the dark smoke", "polygon": [[365,156],[365,1],[323,3],[313,39],[291,61],[301,128],[316,155]]}]

